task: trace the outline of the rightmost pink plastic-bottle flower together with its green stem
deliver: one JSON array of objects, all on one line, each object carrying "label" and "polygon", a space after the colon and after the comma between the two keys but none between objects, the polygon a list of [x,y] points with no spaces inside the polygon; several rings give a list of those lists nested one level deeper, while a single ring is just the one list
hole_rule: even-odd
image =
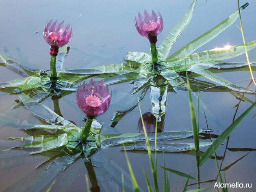
[{"label": "rightmost pink plastic-bottle flower together with its green stem", "polygon": [[156,42],[157,35],[163,31],[163,19],[158,11],[158,16],[152,10],[152,15],[148,11],[144,11],[144,17],[138,13],[138,19],[135,17],[135,26],[137,31],[143,37],[147,37],[150,41],[152,63],[157,65]]}]

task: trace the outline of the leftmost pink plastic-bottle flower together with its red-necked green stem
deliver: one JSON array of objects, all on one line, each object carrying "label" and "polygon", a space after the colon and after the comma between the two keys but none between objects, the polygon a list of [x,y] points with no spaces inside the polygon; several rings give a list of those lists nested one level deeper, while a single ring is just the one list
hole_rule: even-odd
[{"label": "leftmost pink plastic-bottle flower together with its red-necked green stem", "polygon": [[67,45],[68,42],[71,41],[72,37],[72,27],[70,24],[64,26],[64,21],[59,23],[58,20],[55,22],[50,20],[50,22],[46,23],[43,30],[43,38],[46,40],[46,43],[51,45],[50,47],[50,55],[51,58],[51,79],[57,79],[56,72],[56,56],[59,52],[59,47],[63,47]]}]

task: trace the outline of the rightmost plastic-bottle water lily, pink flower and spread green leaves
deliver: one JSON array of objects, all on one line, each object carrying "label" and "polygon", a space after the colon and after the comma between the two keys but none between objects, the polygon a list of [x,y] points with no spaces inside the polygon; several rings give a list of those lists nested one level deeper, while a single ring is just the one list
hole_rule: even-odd
[{"label": "rightmost plastic-bottle water lily, pink flower and spread green leaves", "polygon": [[[244,54],[245,47],[243,43],[240,45],[226,46],[194,53],[198,48],[205,45],[231,26],[239,16],[239,11],[245,9],[248,6],[248,3],[241,6],[239,10],[235,11],[217,26],[211,28],[169,56],[174,43],[191,21],[196,3],[197,1],[193,0],[187,13],[182,17],[178,24],[176,24],[174,29],[169,32],[168,36],[159,47],[154,50],[154,46],[151,46],[151,55],[143,52],[129,52],[126,55],[125,63],[104,65],[93,67],[91,69],[65,70],[61,72],[60,76],[70,76],[71,74],[76,76],[110,76],[110,74],[115,74],[114,77],[105,78],[104,82],[115,84],[124,81],[132,81],[131,84],[135,86],[132,94],[143,90],[140,99],[143,99],[145,92],[150,87],[152,111],[158,122],[161,121],[161,116],[166,112],[168,91],[178,92],[187,90],[187,77],[185,71],[190,72],[188,78],[192,81],[200,82],[199,80],[193,79],[193,77],[202,76],[214,83],[228,88],[230,91],[255,94],[256,92],[254,90],[239,87],[216,74],[221,73],[228,68],[235,69],[247,65],[247,63],[228,63],[222,61]],[[144,18],[139,14],[139,19],[135,20],[135,26],[138,32],[144,37],[149,37],[150,32],[156,36],[158,32],[154,31],[158,25],[154,23],[157,23],[157,21],[158,23],[162,23],[161,15],[156,16],[153,12],[150,16],[148,12],[145,12]],[[143,26],[145,27],[143,28]],[[148,31],[146,30],[147,26],[150,26]],[[159,32],[161,30],[159,30]],[[256,41],[246,43],[246,46],[247,50],[252,50],[256,48]],[[213,70],[208,70],[205,67],[217,68],[218,70],[211,72]],[[203,87],[201,87],[202,84],[200,84],[200,90],[204,90],[204,88],[207,88],[210,84],[211,83],[209,82],[203,82]],[[115,121],[113,126],[115,126],[127,112],[133,110],[136,105],[137,103],[124,111],[118,111],[112,119]]]}]

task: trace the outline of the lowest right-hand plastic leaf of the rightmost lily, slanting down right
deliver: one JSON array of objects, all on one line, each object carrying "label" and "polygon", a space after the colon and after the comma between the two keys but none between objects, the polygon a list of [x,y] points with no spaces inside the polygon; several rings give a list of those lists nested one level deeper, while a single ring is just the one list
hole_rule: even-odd
[{"label": "lowest right-hand plastic leaf of the rightmost lily, slanting down right", "polygon": [[243,92],[243,93],[256,93],[256,91],[249,90],[243,87],[239,87],[235,84],[232,84],[232,82],[229,82],[226,79],[223,79],[219,76],[217,76],[215,73],[212,73],[208,71],[207,69],[204,69],[203,67],[200,67],[198,65],[193,65],[188,71],[194,72],[199,74],[200,76],[204,76],[205,78],[212,80],[213,82],[219,83],[227,88],[230,88],[233,91]]}]

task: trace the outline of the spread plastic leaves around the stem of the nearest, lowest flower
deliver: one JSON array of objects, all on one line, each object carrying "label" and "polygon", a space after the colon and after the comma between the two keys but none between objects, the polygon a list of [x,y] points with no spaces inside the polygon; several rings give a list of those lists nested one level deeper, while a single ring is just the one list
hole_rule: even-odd
[{"label": "spread plastic leaves around the stem of the nearest, lowest flower", "polygon": [[[102,86],[102,83],[99,82],[95,86],[98,85],[100,87]],[[83,86],[85,85],[81,85],[80,88],[83,89]],[[103,90],[102,93],[106,93],[107,95],[108,91],[106,90],[107,88],[105,86],[105,91]],[[129,175],[113,161],[107,160],[104,153],[102,153],[102,150],[113,146],[119,146],[119,149],[122,150],[122,144],[128,144],[126,149],[129,151],[147,151],[144,133],[101,134],[102,123],[98,123],[94,119],[91,123],[89,136],[86,138],[86,142],[82,143],[80,140],[81,128],[76,126],[75,123],[68,121],[50,108],[31,99],[22,91],[17,89],[15,91],[20,97],[22,104],[24,104],[24,107],[37,117],[42,124],[31,124],[28,121],[15,118],[15,110],[19,110],[19,108],[6,112],[5,114],[0,114],[0,125],[21,129],[28,133],[28,136],[25,137],[9,138],[12,140],[12,149],[0,151],[1,164],[2,166],[15,166],[15,164],[20,163],[20,161],[22,164],[29,163],[26,161],[24,162],[20,155],[36,154],[37,157],[38,155],[48,157],[41,162],[37,168],[43,166],[47,162],[50,162],[50,165],[47,169],[41,168],[30,173],[28,176],[26,175],[26,177],[17,181],[17,183],[13,184],[10,188],[7,188],[6,192],[26,191],[31,189],[33,192],[40,192],[46,185],[50,184],[55,177],[57,178],[61,171],[65,170],[65,168],[79,158],[84,158],[85,162],[92,163],[91,165],[85,164],[87,168],[91,169],[95,166],[94,169],[96,176],[98,176],[97,179],[99,182],[102,180],[102,183],[100,182],[101,186],[103,185],[107,189],[109,186],[113,187],[113,185],[117,185],[116,188],[121,189],[122,182],[120,175],[121,173],[124,173],[126,179],[125,185],[132,190]],[[100,95],[95,96],[99,97]],[[87,97],[88,96],[83,97],[85,102]],[[101,99],[103,104],[104,98],[101,97]],[[110,99],[110,97],[107,97],[107,99]],[[91,101],[91,105],[93,106],[100,104],[98,101],[98,104],[94,103],[93,100],[95,99],[89,101],[87,99],[88,102]],[[106,108],[104,110],[106,110]],[[20,111],[17,113],[19,112]],[[208,132],[209,130],[210,129],[200,129],[199,132]],[[157,150],[165,152],[184,152],[195,149],[193,143],[168,142],[170,140],[182,140],[191,136],[193,136],[192,130],[158,133],[157,140],[161,141],[161,143],[155,148],[155,134],[148,134],[152,151]],[[10,140],[1,140],[1,142],[3,144],[9,144]],[[211,142],[200,142],[200,147],[206,147],[210,144]],[[80,166],[77,167],[80,168]],[[74,166],[74,168],[76,168],[76,166]],[[73,170],[73,168],[72,171],[76,173],[76,170]],[[101,175],[104,175],[104,178],[101,178]],[[62,187],[65,188],[65,185],[66,182],[63,183]],[[96,185],[95,187],[98,188]]]}]

